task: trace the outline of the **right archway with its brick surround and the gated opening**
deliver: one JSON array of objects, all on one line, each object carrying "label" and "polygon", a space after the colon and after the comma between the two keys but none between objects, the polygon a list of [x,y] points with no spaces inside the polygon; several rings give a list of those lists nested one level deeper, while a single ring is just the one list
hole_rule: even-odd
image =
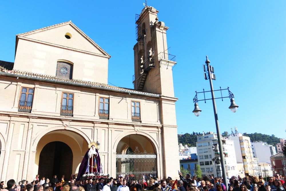
[{"label": "right archway with its brick surround and the gated opening", "polygon": [[[131,135],[131,137],[130,137]],[[133,136],[132,138],[132,135]],[[152,176],[161,177],[161,159],[160,159],[160,150],[159,143],[157,138],[153,138],[148,133],[136,132],[136,131],[127,131],[122,132],[117,135],[114,139],[113,147],[113,171],[112,175],[115,174],[119,176],[132,176],[135,178],[142,178],[142,173],[152,174]],[[128,143],[128,141],[130,141]],[[137,157],[127,157],[132,156],[126,153],[128,147],[134,151],[133,154],[136,154]],[[139,152],[138,152],[139,151]],[[143,153],[151,154],[153,157],[146,157]],[[134,155],[135,156],[135,155]]]}]

